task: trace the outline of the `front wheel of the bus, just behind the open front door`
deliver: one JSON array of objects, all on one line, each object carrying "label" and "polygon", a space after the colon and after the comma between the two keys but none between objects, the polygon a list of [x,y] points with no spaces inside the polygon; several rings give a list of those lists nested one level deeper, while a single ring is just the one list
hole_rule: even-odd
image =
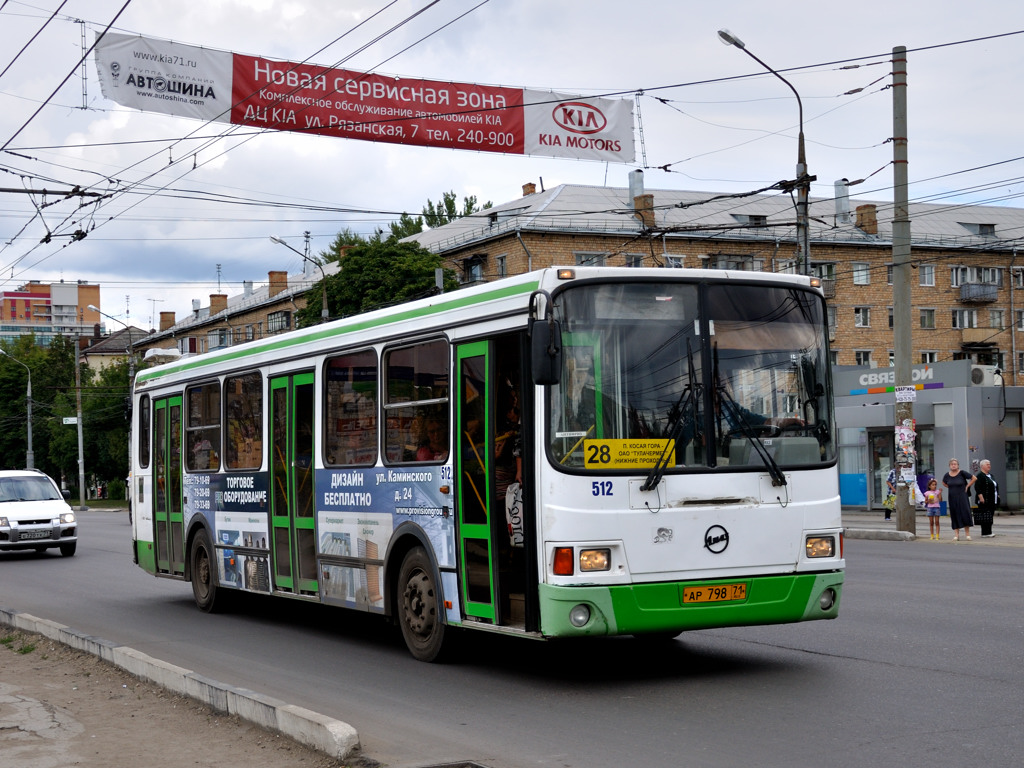
[{"label": "front wheel of the bus, just behind the open front door", "polygon": [[437,585],[423,547],[409,551],[398,570],[398,624],[415,658],[434,662],[444,643],[444,623],[437,613]]}]

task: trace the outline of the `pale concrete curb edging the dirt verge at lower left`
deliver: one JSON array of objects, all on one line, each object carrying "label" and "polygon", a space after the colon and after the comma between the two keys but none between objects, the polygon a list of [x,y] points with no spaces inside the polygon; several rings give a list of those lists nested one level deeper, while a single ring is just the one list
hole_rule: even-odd
[{"label": "pale concrete curb edging the dirt verge at lower left", "polygon": [[140,680],[194,698],[217,712],[236,715],[261,728],[275,731],[301,744],[318,750],[332,758],[345,760],[359,749],[358,733],[347,723],[272,696],[218,682],[183,667],[154,658],[126,645],[112,643],[62,624],[2,606],[0,606],[0,625],[34,632],[85,653],[91,653]]}]

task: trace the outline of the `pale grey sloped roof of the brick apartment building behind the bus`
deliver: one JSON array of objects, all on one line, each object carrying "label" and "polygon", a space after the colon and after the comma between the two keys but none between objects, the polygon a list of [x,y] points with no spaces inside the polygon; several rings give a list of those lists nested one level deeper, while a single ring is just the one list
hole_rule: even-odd
[{"label": "pale grey sloped roof of the brick apartment building behind the bus", "polygon": [[[796,210],[787,193],[722,195],[646,189],[653,196],[654,226],[647,233],[716,241],[795,240]],[[874,206],[877,233],[857,226],[857,208]],[[813,242],[876,245],[891,242],[893,203],[855,200],[844,219],[834,198],[812,198]],[[911,203],[911,239],[918,247],[1012,250],[1024,237],[1024,210],[1002,206]],[[751,217],[754,217],[753,219]],[[761,217],[764,217],[763,219]],[[763,224],[763,225],[762,225]],[[461,250],[516,231],[629,236],[644,232],[628,187],[559,184],[443,226],[407,238],[435,253]]]}]

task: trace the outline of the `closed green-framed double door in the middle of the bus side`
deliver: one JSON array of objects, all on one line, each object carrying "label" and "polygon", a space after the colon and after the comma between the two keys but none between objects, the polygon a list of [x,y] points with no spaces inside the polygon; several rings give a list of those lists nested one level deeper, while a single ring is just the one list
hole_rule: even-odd
[{"label": "closed green-framed double door in the middle of the bus side", "polygon": [[270,380],[270,551],[273,588],[313,596],[316,515],[313,504],[313,374]]}]

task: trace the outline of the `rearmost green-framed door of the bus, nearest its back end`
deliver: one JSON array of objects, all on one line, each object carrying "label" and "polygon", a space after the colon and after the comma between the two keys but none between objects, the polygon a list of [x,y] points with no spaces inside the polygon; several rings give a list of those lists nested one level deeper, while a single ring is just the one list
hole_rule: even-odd
[{"label": "rearmost green-framed door of the bus, nearest its back end", "polygon": [[153,540],[157,572],[184,575],[181,496],[181,395],[154,403]]}]

